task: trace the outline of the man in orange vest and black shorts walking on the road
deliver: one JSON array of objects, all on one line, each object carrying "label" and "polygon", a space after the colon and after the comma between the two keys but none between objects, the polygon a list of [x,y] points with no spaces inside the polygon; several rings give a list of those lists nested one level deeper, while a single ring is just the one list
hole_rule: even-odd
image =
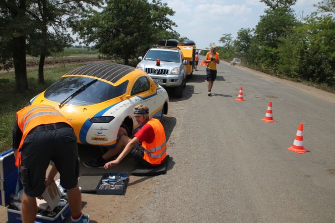
[{"label": "man in orange vest and black shorts walking on the road", "polygon": [[216,63],[220,63],[220,58],[218,56],[218,52],[216,52],[216,46],[211,45],[210,51],[207,52],[205,59],[201,63],[201,65],[207,65],[206,68],[206,80],[207,80],[207,88],[208,88],[208,96],[211,96],[211,88],[213,87],[213,83],[216,78]]}]

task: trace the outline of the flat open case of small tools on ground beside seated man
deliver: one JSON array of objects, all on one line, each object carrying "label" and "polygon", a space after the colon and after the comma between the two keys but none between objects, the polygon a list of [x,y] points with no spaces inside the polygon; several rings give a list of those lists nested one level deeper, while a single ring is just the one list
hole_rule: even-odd
[{"label": "flat open case of small tools on ground beside seated man", "polygon": [[106,173],[103,175],[82,175],[78,186],[81,193],[96,193],[97,195],[123,195],[128,184],[127,173]]}]

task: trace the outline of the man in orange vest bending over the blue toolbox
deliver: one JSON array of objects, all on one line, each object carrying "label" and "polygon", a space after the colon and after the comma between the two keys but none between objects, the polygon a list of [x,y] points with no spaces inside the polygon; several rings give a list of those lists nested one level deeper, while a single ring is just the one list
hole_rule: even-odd
[{"label": "man in orange vest bending over the blue toolbox", "polygon": [[[36,197],[42,195],[59,171],[60,185],[67,189],[72,222],[88,223],[89,216],[81,214],[78,148],[70,123],[49,105],[27,106],[16,113],[16,118],[13,150],[23,184],[22,222],[34,222]],[[45,181],[50,161],[54,166]]]}]

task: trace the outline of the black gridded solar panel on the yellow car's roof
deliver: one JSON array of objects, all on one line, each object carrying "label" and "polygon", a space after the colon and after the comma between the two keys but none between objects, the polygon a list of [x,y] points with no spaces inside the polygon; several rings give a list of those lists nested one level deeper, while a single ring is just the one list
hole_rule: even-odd
[{"label": "black gridded solar panel on the yellow car's roof", "polygon": [[65,75],[87,75],[116,83],[124,75],[130,73],[133,70],[135,70],[135,68],[122,64],[91,63],[71,70]]}]

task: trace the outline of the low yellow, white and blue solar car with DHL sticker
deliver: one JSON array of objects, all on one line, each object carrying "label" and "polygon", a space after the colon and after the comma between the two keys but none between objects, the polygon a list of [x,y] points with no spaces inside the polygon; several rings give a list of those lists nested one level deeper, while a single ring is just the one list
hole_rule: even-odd
[{"label": "low yellow, white and blue solar car with DHL sticker", "polygon": [[60,77],[29,104],[52,105],[71,123],[80,144],[114,147],[122,127],[127,135],[139,128],[132,110],[138,104],[162,120],[168,95],[150,76],[111,62],[78,67]]}]

